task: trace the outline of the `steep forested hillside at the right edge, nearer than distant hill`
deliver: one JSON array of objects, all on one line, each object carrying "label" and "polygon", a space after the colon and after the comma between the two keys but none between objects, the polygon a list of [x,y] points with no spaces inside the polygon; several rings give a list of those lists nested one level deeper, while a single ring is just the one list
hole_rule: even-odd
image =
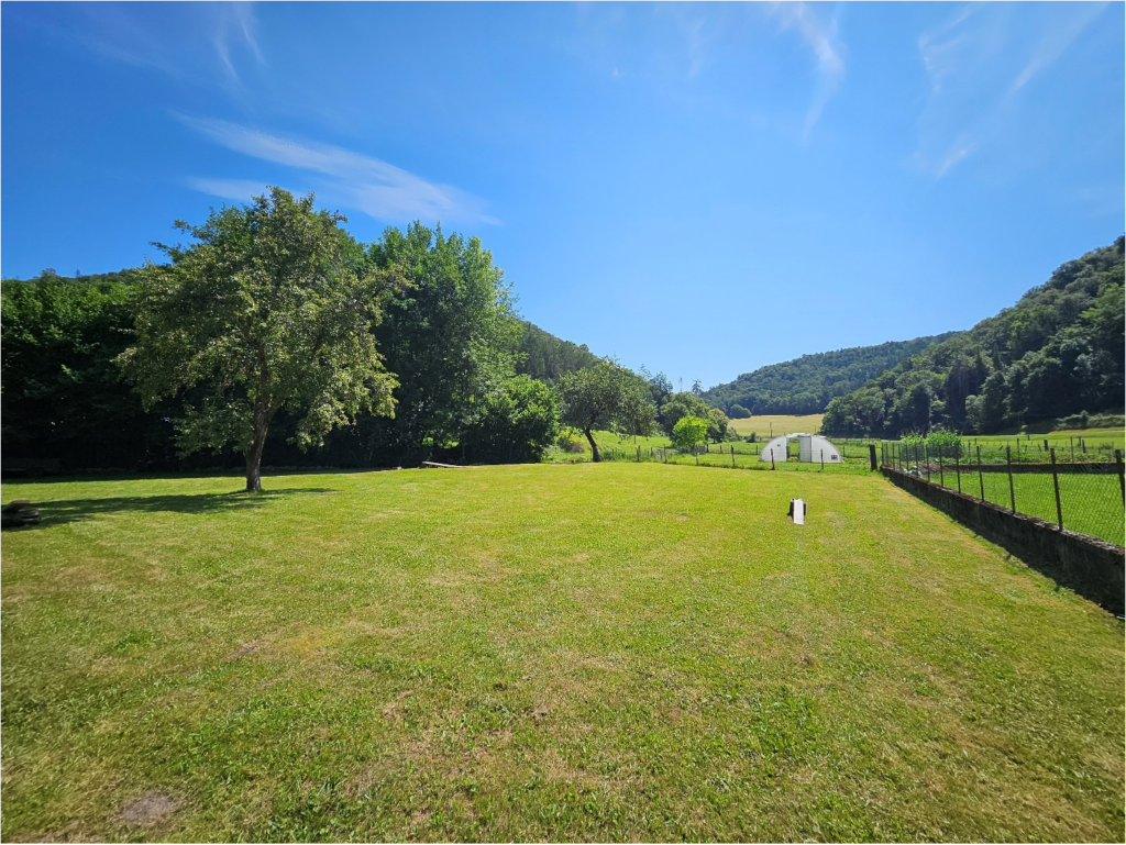
[{"label": "steep forested hillside at the right edge, nearer than distant hill", "polygon": [[823,430],[993,433],[1126,406],[1126,235],[1011,308],[833,399]]}]

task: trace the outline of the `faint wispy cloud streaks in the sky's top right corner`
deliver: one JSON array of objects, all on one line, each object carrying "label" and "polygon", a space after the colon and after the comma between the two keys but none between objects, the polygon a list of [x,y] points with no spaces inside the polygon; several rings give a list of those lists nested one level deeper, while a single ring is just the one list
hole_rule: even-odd
[{"label": "faint wispy cloud streaks in the sky's top right corner", "polygon": [[919,57],[929,90],[919,118],[917,163],[941,178],[1011,136],[1025,107],[1022,92],[1109,5],[971,0],[923,33]]}]

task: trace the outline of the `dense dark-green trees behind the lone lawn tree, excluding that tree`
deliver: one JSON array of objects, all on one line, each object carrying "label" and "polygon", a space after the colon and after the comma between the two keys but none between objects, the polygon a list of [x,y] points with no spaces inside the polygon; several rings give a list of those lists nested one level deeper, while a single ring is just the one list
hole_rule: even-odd
[{"label": "dense dark-green trees behind the lone lawn tree, excluding that tree", "polygon": [[[520,320],[502,271],[476,239],[418,224],[388,228],[376,243],[356,244],[355,261],[404,275],[383,294],[375,329],[397,381],[395,414],[361,415],[303,451],[294,443],[296,420],[283,412],[270,428],[268,461],[534,459],[529,432],[557,426],[546,384],[601,359]],[[0,457],[57,459],[64,469],[238,465],[234,449],[186,456],[178,448],[185,403],[199,399],[202,387],[145,411],[126,379],[117,359],[136,341],[141,272],[64,278],[47,270],[0,280]]]}]

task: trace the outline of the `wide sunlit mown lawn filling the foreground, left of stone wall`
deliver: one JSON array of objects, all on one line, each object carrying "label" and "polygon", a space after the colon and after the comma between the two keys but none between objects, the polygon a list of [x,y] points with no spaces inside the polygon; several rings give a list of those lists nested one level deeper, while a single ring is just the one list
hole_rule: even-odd
[{"label": "wide sunlit mown lawn filling the foreground, left of stone wall", "polygon": [[2,485],[0,839],[1126,839],[1123,623],[876,475],[240,486]]}]

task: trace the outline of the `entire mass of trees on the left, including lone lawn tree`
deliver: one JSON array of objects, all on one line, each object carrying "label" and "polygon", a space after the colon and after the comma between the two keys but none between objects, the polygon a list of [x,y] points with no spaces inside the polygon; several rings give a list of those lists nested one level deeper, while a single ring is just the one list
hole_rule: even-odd
[{"label": "entire mass of trees on the left, including lone lawn tree", "polygon": [[[365,245],[343,222],[274,189],[178,223],[188,243],[161,246],[166,263],[0,282],[5,455],[71,468],[243,459],[249,489],[267,452],[275,465],[535,460],[561,414],[578,419],[577,394],[554,384],[573,368],[642,384],[539,330],[529,342],[476,239],[414,224]],[[528,349],[543,380],[520,371]],[[598,422],[642,430],[634,405]]]}]

